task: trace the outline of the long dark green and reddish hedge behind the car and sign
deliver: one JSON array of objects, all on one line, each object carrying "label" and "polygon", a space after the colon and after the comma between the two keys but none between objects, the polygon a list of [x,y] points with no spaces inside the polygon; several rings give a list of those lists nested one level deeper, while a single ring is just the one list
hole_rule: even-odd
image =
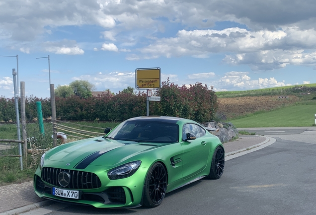
[{"label": "long dark green and reddish hedge behind the car and sign", "polygon": [[[207,85],[196,83],[189,87],[169,83],[161,83],[155,90],[160,102],[150,102],[150,115],[166,115],[189,118],[198,122],[210,121],[217,109],[217,97]],[[51,116],[50,99],[26,97],[26,120],[37,117],[36,102],[42,103],[43,117]],[[56,115],[67,120],[102,120],[123,121],[125,119],[146,115],[146,93],[119,93],[116,95],[102,94],[97,97],[80,99],[77,96],[55,98]],[[20,108],[20,105],[19,105]],[[0,121],[15,121],[14,100],[0,97]]]}]

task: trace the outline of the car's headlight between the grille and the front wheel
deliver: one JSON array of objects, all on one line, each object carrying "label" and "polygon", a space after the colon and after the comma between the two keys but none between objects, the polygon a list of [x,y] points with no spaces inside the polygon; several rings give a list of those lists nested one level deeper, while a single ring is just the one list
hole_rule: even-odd
[{"label": "car's headlight between the grille and the front wheel", "polygon": [[107,176],[110,180],[123,179],[132,176],[141,166],[142,161],[133,161],[111,169]]}]

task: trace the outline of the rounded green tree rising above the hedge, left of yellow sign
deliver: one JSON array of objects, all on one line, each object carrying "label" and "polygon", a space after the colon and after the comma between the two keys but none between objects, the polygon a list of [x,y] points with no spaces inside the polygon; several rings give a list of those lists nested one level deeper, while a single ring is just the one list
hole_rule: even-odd
[{"label": "rounded green tree rising above the hedge, left of yellow sign", "polygon": [[69,85],[73,89],[74,94],[83,99],[92,97],[91,92],[95,89],[95,86],[93,84],[85,80],[76,80]]}]

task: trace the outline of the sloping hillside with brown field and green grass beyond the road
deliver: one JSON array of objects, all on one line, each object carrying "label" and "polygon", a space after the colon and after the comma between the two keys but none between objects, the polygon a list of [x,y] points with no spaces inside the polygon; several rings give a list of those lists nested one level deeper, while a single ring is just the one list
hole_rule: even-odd
[{"label": "sloping hillside with brown field and green grass beyond the road", "polygon": [[216,93],[219,114],[236,127],[313,126],[316,84]]}]

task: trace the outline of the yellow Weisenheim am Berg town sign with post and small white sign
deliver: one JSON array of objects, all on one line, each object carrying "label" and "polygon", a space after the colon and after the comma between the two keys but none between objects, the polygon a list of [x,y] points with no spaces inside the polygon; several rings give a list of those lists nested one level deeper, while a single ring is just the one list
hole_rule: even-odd
[{"label": "yellow Weisenheim am Berg town sign with post and small white sign", "polygon": [[161,69],[157,68],[139,68],[135,70],[135,88],[138,90],[147,90],[146,112],[149,116],[149,101],[160,101],[151,99],[152,89],[159,89],[161,83]]}]

